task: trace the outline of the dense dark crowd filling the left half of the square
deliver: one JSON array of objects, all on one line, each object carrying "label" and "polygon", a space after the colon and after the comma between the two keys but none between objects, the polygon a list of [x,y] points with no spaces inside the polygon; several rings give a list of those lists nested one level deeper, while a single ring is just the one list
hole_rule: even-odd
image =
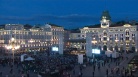
[{"label": "dense dark crowd filling the left half of the square", "polygon": [[[20,56],[15,55],[14,57],[14,66],[13,66],[13,57],[7,55],[0,58],[0,67],[9,67],[7,72],[12,75],[13,67],[18,70],[18,74],[22,76],[30,77],[29,74],[35,73],[39,75],[46,75],[49,77],[67,77],[70,74],[69,70],[72,70],[77,63],[77,56],[65,56],[65,55],[47,55],[47,53],[26,53],[27,56],[34,58],[32,61],[23,61],[21,62]],[[26,56],[25,56],[26,57]],[[17,73],[17,72],[16,72]],[[3,75],[3,71],[0,71],[0,75]]]}]

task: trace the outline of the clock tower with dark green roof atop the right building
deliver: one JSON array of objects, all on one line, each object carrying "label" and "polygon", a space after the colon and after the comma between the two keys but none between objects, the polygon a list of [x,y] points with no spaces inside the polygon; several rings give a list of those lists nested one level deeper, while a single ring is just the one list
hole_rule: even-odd
[{"label": "clock tower with dark green roof atop the right building", "polygon": [[101,22],[101,28],[107,28],[110,26],[111,17],[108,11],[103,11],[100,22]]}]

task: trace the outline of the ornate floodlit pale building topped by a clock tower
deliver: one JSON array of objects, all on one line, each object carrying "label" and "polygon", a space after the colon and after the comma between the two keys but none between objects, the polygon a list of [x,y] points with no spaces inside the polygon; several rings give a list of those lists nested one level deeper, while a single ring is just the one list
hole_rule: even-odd
[{"label": "ornate floodlit pale building topped by a clock tower", "polygon": [[100,25],[87,26],[81,30],[85,39],[86,33],[98,33],[98,39],[92,41],[101,50],[107,51],[138,51],[138,26],[129,23],[113,24],[108,11],[104,11],[101,16]]}]

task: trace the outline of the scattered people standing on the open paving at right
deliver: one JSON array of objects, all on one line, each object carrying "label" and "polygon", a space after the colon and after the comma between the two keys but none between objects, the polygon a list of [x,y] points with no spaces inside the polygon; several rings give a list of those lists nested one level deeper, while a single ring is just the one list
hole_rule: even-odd
[{"label": "scattered people standing on the open paving at right", "polygon": [[[106,57],[105,59],[102,59],[102,60],[94,60],[92,63],[89,62],[89,63],[86,63],[86,66],[87,67],[92,67],[92,76],[95,77],[96,76],[96,70],[98,70],[99,72],[101,71],[101,69],[105,69],[105,75],[106,76],[119,76],[119,77],[127,77],[127,76],[130,76],[130,77],[133,77],[133,73],[132,73],[132,69],[128,69],[127,67],[119,67],[120,66],[120,63],[122,61],[128,61],[128,56],[123,53],[121,54],[118,58],[112,58],[112,57]],[[75,70],[72,71],[73,74],[75,74],[74,76],[78,76],[78,77],[83,77],[84,75],[84,72],[82,68],[83,66],[80,65],[79,66],[79,73],[76,73]],[[75,72],[75,73],[74,73]]]}]

